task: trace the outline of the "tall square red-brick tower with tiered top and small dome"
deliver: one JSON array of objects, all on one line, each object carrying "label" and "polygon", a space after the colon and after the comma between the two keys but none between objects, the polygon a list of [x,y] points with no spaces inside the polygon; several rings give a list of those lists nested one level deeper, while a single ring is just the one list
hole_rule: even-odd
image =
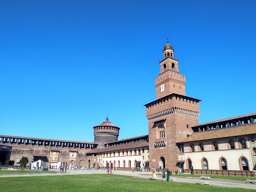
[{"label": "tall square red-brick tower with tiered top and small dome", "polygon": [[146,105],[148,119],[150,166],[175,171],[178,166],[178,140],[192,133],[191,126],[198,124],[199,102],[186,96],[185,76],[180,74],[178,59],[169,44],[163,47],[160,74],[155,78],[156,100]]}]

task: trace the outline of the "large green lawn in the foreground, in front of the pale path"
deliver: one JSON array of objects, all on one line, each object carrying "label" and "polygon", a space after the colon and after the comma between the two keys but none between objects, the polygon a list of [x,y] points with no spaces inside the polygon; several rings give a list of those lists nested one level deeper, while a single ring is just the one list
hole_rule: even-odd
[{"label": "large green lawn in the foreground, in front of the pale path", "polygon": [[122,175],[52,175],[34,177],[2,177],[0,189],[4,192],[243,192],[238,188],[220,188],[188,183],[146,180]]}]

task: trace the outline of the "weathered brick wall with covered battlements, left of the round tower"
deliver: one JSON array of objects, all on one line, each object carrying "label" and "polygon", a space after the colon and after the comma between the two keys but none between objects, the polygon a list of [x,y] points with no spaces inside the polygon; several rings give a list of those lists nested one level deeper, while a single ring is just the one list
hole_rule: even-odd
[{"label": "weathered brick wall with covered battlements, left of the round tower", "polygon": [[[2,164],[9,164],[9,160],[28,157],[32,160],[43,160],[48,166],[50,163],[65,162],[73,166],[87,166],[87,152],[96,147],[96,143],[85,143],[67,140],[45,140],[31,137],[15,137],[0,135],[0,145],[11,146],[10,158]],[[76,157],[72,154],[77,154]],[[56,159],[57,158],[57,159]],[[18,165],[15,161],[15,165]]]}]

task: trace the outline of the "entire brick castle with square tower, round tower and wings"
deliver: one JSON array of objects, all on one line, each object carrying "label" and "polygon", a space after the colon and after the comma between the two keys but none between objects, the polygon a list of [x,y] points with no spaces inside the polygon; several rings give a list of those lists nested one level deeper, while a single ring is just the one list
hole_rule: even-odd
[{"label": "entire brick castle with square tower, round tower and wings", "polygon": [[118,140],[109,122],[93,127],[94,142],[0,135],[0,162],[22,156],[70,168],[256,170],[256,113],[198,124],[199,102],[186,96],[186,78],[169,41],[155,78],[156,100],[145,105],[148,135]]}]

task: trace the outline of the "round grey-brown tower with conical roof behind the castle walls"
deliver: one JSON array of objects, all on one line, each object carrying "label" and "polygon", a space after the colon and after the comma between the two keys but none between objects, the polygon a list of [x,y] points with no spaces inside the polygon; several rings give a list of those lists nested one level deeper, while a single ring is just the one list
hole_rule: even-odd
[{"label": "round grey-brown tower with conical roof behind the castle walls", "polygon": [[119,127],[111,124],[108,117],[105,122],[93,127],[94,142],[98,143],[97,148],[105,148],[105,143],[117,141],[119,136]]}]

